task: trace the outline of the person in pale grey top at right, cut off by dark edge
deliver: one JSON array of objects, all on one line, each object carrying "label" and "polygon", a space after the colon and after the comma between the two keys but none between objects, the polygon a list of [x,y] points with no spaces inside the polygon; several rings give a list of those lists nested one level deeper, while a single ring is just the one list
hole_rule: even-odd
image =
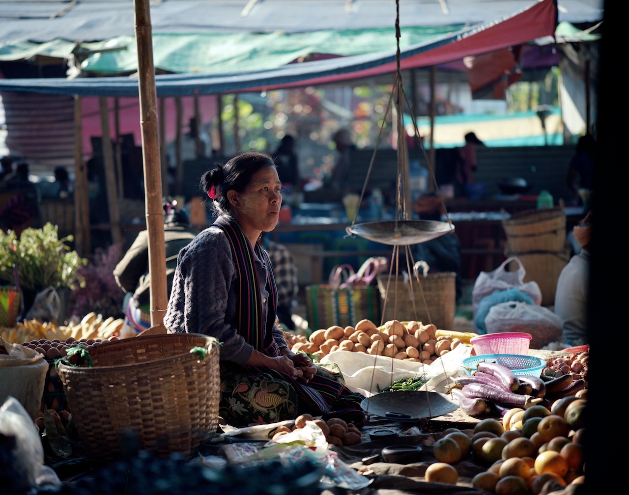
[{"label": "person in pale grey top at right, cut off by dark edge", "polygon": [[573,234],[581,252],[572,256],[559,274],[555,290],[555,314],[562,321],[562,342],[587,344],[587,294],[589,285],[589,244],[592,212],[574,227]]}]

